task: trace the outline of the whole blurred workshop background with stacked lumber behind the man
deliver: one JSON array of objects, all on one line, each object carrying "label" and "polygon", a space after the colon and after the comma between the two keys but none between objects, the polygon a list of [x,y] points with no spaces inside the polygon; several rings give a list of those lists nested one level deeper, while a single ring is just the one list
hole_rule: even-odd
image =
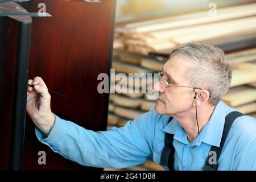
[{"label": "whole blurred workshop background with stacked lumber behind the man", "polygon": [[[223,49],[234,67],[222,101],[256,118],[256,1],[117,0],[115,19],[116,74],[157,73],[175,47],[192,40],[211,44]],[[148,93],[110,94],[108,128],[147,112],[154,106],[148,98]],[[163,170],[152,160],[127,169]]]}]

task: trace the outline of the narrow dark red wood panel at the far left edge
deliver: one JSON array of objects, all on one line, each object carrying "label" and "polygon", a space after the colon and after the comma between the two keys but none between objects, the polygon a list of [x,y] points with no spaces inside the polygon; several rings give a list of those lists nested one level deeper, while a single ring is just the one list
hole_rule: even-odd
[{"label": "narrow dark red wood panel at the far left edge", "polygon": [[0,170],[9,169],[17,25],[0,17]]}]

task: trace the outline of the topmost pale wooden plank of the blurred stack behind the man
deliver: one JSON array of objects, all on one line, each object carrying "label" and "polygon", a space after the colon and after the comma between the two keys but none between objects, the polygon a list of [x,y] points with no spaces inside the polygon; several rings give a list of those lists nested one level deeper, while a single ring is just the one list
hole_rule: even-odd
[{"label": "topmost pale wooden plank of the blurred stack behind the man", "polygon": [[210,18],[208,11],[199,13],[174,16],[171,18],[163,18],[150,20],[145,22],[126,24],[126,27],[117,27],[117,32],[138,34],[152,31],[159,31],[170,28],[188,27],[196,24],[213,23],[222,20],[242,18],[255,15],[256,4],[242,5],[218,9],[218,16]]}]

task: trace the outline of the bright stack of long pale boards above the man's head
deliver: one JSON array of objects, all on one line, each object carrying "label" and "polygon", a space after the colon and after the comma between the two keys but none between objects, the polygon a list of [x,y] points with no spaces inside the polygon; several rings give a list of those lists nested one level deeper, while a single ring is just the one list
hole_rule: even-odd
[{"label": "bright stack of long pale boards above the man's head", "polygon": [[218,9],[216,16],[208,11],[170,18],[128,23],[117,27],[122,49],[148,55],[195,42],[228,41],[254,34],[256,3]]}]

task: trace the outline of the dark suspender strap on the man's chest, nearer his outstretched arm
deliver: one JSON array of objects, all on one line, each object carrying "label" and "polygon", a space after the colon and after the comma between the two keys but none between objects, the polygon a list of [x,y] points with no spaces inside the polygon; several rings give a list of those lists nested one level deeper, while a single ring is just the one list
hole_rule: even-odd
[{"label": "dark suspender strap on the man's chest, nearer his outstretched arm", "polygon": [[[172,120],[172,117],[169,118],[168,123]],[[160,165],[168,166],[170,170],[174,171],[174,151],[175,148],[172,145],[174,141],[174,135],[166,133],[164,137],[164,148],[160,158]]]}]

